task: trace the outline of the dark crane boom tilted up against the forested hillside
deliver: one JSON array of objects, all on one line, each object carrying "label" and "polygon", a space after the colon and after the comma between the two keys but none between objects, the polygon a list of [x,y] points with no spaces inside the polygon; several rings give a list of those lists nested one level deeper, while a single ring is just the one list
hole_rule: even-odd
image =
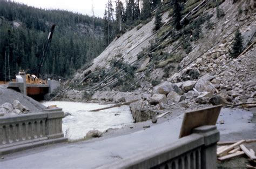
[{"label": "dark crane boom tilted up against the forested hillside", "polygon": [[44,44],[44,50],[43,50],[43,53],[41,55],[41,58],[39,59],[38,70],[37,70],[37,77],[40,76],[42,67],[44,65],[45,56],[47,55],[47,53],[48,53],[48,51],[50,49],[51,39],[52,39],[52,35],[53,35],[53,32],[54,32],[55,26],[56,26],[55,24],[53,24],[51,26],[48,38],[46,39],[46,42]]}]

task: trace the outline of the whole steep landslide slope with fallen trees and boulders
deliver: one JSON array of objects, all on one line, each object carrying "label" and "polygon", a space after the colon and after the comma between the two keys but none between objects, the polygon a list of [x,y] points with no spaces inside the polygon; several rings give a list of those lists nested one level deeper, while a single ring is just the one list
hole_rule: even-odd
[{"label": "whole steep landslide slope with fallen trees and boulders", "polygon": [[[151,119],[156,112],[256,102],[256,44],[238,58],[230,56],[237,29],[242,34],[244,49],[256,40],[254,1],[234,4],[224,1],[219,8],[225,12],[221,18],[216,16],[216,6],[207,1],[198,12],[188,15],[190,23],[181,31],[172,28],[171,17],[163,12],[165,24],[158,32],[151,31],[153,19],[126,32],[93,60],[88,69],[76,73],[72,82],[80,82],[79,90],[69,90],[61,99],[93,102],[141,99],[130,105],[136,121]],[[187,42],[190,48],[184,45]],[[111,69],[112,59],[135,66],[134,77],[127,78],[126,83],[118,83],[118,79],[127,73],[114,78],[112,74],[90,77],[97,69]],[[96,87],[88,87],[95,78],[99,79],[93,84]],[[118,87],[120,84],[135,87],[120,92],[124,89]]]}]

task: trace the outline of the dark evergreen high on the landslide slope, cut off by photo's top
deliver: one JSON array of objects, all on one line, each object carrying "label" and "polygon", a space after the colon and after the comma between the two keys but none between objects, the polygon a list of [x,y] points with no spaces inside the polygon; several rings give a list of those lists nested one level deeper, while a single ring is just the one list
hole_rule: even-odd
[{"label": "dark evergreen high on the landslide slope, cut off by photo's top", "polygon": [[179,4],[178,0],[172,0],[171,2],[172,10],[173,10],[173,25],[176,29],[181,29],[181,11],[182,6]]}]

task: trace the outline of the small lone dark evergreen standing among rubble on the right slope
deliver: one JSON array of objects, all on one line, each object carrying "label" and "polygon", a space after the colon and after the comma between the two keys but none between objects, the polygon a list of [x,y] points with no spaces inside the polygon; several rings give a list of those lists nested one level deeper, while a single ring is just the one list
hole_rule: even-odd
[{"label": "small lone dark evergreen standing among rubble on the right slope", "polygon": [[239,30],[235,31],[234,42],[232,46],[232,51],[230,52],[233,58],[236,58],[242,52],[242,35]]}]

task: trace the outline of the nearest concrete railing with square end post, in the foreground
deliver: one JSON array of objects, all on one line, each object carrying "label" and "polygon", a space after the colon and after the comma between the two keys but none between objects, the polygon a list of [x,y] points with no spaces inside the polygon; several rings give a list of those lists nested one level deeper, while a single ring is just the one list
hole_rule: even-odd
[{"label": "nearest concrete railing with square end post, in the foreground", "polygon": [[201,126],[190,136],[100,168],[216,169],[218,140],[216,126]]}]

